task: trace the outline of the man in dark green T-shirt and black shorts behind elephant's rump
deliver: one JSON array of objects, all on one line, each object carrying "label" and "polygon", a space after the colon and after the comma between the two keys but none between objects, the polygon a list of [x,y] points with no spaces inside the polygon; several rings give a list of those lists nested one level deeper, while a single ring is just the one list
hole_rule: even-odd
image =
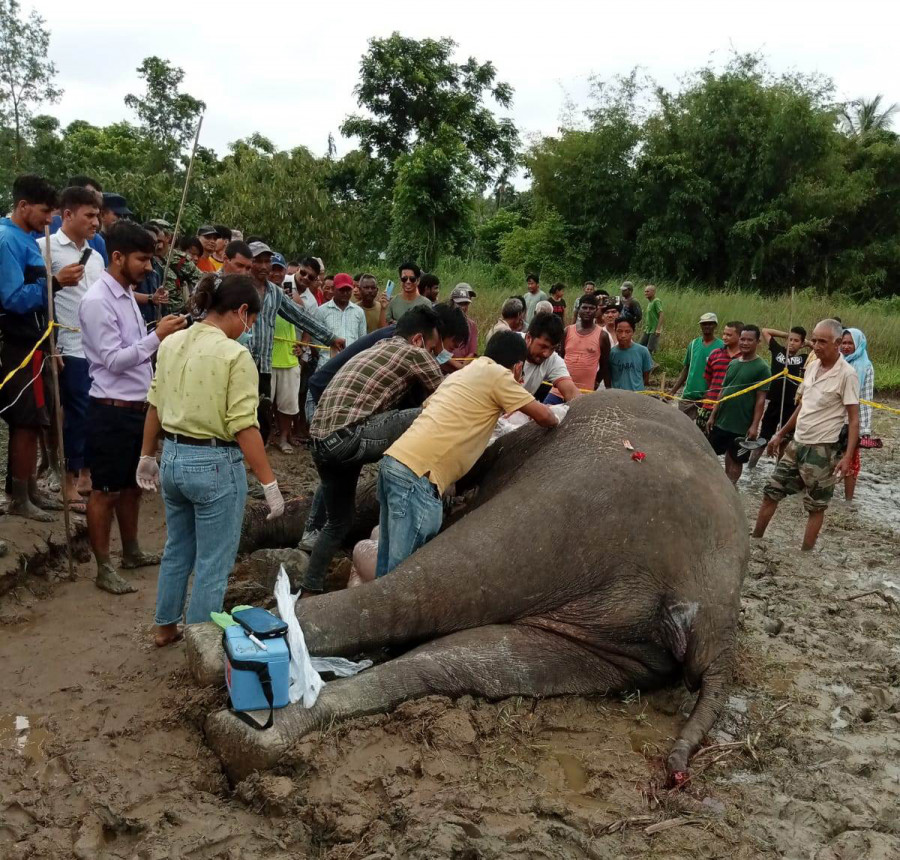
[{"label": "man in dark green T-shirt and black shorts behind elephant's rump", "polygon": [[731,396],[771,376],[768,362],[756,354],[760,337],[755,325],[745,325],[741,329],[740,355],[728,365],[722,391],[707,423],[709,443],[716,454],[725,455],[725,474],[733,484],[741,477],[751,453],[742,448],[738,440],[749,442],[759,436],[759,424],[766,408],[768,382],[753,391]]}]

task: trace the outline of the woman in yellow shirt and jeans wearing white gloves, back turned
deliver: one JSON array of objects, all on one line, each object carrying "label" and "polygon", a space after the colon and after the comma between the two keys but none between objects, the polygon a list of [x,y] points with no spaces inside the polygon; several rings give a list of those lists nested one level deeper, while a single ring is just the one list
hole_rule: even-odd
[{"label": "woman in yellow shirt and jeans wearing white gloves, back turned", "polygon": [[[259,376],[250,353],[236,342],[253,326],[259,293],[245,275],[207,275],[192,302],[202,321],[166,338],[157,356],[137,471],[142,489],[162,487],[166,507],[168,536],[156,594],[158,646],[181,637],[183,615],[195,624],[222,609],[247,499],[245,460],[263,485],[269,519],[284,512],[256,419]],[[157,465],[160,435],[165,442]]]}]

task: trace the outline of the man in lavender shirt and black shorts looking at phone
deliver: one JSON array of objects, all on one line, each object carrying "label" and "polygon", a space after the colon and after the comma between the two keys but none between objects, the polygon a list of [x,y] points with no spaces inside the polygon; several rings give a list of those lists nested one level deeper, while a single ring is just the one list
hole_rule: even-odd
[{"label": "man in lavender shirt and black shorts looking at phone", "polygon": [[97,560],[98,588],[111,594],[135,591],[110,561],[113,513],[122,537],[122,567],[158,564],[141,551],[138,511],[141,491],[135,474],[144,436],[151,356],[161,341],[183,329],[178,314],[163,317],[147,333],[134,299],[134,286],[151,271],[156,242],[142,227],[118,221],[106,234],[109,265],[88,288],[78,308],[81,343],[91,375],[87,413],[87,464],[93,489],[88,500],[88,538]]}]

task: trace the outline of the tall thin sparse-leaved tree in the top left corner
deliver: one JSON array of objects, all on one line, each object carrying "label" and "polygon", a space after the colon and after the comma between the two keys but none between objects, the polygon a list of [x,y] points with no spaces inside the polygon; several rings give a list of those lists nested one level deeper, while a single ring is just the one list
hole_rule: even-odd
[{"label": "tall thin sparse-leaved tree in the top left corner", "polygon": [[12,120],[17,167],[34,106],[62,95],[53,82],[56,66],[47,59],[49,46],[50,32],[36,10],[23,18],[18,0],[0,0],[0,117]]}]

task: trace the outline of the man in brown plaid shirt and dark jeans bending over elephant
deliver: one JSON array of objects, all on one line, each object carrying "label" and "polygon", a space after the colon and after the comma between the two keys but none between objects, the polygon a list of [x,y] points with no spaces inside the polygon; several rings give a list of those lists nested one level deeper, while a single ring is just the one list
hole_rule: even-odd
[{"label": "man in brown plaid shirt and dark jeans bending over elephant", "polygon": [[324,588],[328,565],[353,523],[363,465],[380,460],[422,411],[398,404],[413,387],[424,400],[443,380],[440,326],[430,307],[413,308],[393,337],[350,359],[322,394],[309,434],[327,522],[310,556],[304,591]]}]

